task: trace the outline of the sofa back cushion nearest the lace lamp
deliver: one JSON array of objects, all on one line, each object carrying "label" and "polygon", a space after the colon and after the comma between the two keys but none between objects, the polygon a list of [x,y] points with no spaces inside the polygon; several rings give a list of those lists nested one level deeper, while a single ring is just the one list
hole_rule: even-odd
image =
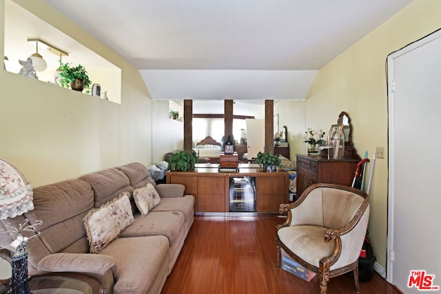
[{"label": "sofa back cushion nearest the lace lamp", "polygon": [[41,231],[38,240],[50,253],[87,253],[88,240],[82,220],[93,204],[92,187],[87,182],[66,180],[34,188],[34,209],[25,213],[25,217],[31,224],[43,222],[36,227]]}]

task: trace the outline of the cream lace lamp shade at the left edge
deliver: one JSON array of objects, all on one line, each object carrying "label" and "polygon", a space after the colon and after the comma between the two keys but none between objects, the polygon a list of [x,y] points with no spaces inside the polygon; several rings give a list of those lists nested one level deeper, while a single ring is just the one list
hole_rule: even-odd
[{"label": "cream lace lamp shade at the left edge", "polygon": [[0,220],[34,209],[32,185],[17,167],[0,159]]}]

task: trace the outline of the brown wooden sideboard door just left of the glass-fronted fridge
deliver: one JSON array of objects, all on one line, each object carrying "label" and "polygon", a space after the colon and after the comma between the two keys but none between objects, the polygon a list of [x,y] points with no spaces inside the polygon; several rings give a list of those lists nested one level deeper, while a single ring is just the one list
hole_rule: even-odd
[{"label": "brown wooden sideboard door just left of the glass-fronted fridge", "polygon": [[225,212],[225,176],[199,176],[198,211]]}]

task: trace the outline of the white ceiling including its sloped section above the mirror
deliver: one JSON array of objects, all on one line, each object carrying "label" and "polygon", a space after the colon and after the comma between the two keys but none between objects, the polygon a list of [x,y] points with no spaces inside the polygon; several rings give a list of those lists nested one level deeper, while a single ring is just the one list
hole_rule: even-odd
[{"label": "white ceiling including its sloped section above the mirror", "polygon": [[45,0],[139,68],[154,99],[304,100],[411,0]]}]

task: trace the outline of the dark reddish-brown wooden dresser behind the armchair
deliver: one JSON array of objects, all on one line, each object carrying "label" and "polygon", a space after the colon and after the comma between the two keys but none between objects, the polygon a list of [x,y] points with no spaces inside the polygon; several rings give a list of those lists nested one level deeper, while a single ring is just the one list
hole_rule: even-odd
[{"label": "dark reddish-brown wooden dresser behind the armchair", "polygon": [[327,159],[320,156],[297,154],[297,197],[317,182],[351,186],[357,163],[356,158]]}]

